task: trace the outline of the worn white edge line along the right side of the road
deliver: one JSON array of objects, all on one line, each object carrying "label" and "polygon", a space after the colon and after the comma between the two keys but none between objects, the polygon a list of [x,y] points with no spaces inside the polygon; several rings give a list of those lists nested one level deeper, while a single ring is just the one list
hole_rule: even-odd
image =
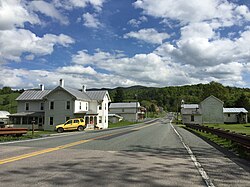
[{"label": "worn white edge line along the right side of the road", "polygon": [[192,152],[192,150],[190,149],[190,147],[184,142],[182,136],[178,133],[178,131],[174,128],[174,126],[172,125],[172,120],[170,121],[170,125],[173,128],[174,132],[177,134],[177,136],[179,137],[182,145],[185,147],[185,149],[187,150],[189,156],[191,157],[191,160],[194,162],[194,165],[196,166],[196,168],[198,169],[202,179],[205,181],[207,187],[215,187],[215,185],[213,184],[213,182],[211,181],[211,179],[209,178],[209,176],[207,175],[206,171],[204,170],[204,168],[202,167],[201,163],[199,163],[194,155],[194,153]]}]

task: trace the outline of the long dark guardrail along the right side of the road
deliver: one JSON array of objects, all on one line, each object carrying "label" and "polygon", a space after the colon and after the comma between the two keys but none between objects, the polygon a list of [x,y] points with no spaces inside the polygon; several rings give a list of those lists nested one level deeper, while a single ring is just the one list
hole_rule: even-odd
[{"label": "long dark guardrail along the right side of the road", "polygon": [[234,132],[230,132],[229,130],[215,129],[213,127],[202,126],[202,125],[194,125],[194,124],[186,124],[186,127],[192,128],[202,132],[208,132],[218,137],[225,138],[227,140],[231,140],[245,148],[248,152],[250,152],[250,137],[247,135],[237,134]]}]

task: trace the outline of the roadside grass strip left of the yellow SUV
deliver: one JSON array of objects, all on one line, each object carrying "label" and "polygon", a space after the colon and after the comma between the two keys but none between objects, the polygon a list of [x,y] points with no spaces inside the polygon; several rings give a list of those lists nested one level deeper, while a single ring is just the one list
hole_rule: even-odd
[{"label": "roadside grass strip left of the yellow SUV", "polygon": [[28,131],[27,134],[24,134],[20,137],[15,136],[0,136],[0,142],[9,142],[9,141],[17,141],[17,140],[27,140],[33,138],[41,138],[44,135],[54,134],[53,131],[35,131],[34,136],[32,136],[32,131]]}]

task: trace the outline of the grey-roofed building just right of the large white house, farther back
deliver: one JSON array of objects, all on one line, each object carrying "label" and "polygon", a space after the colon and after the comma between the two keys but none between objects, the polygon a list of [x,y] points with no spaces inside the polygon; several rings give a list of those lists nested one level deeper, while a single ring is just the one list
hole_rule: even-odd
[{"label": "grey-roofed building just right of the large white house, farther back", "polygon": [[139,102],[111,103],[109,113],[118,114],[124,120],[134,122],[144,118],[145,113],[141,110],[142,108]]}]

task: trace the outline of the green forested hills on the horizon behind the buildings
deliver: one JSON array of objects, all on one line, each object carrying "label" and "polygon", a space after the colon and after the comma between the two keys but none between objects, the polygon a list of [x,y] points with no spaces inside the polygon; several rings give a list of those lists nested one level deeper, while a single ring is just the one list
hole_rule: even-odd
[{"label": "green forested hills on the horizon behind the buildings", "polygon": [[[228,87],[216,82],[164,88],[132,86],[128,88],[103,89],[109,91],[112,102],[138,100],[148,111],[154,111],[158,107],[162,107],[166,111],[176,111],[177,108],[180,110],[181,100],[184,100],[185,103],[198,104],[210,95],[214,95],[222,100],[224,107],[244,107],[250,111],[249,88]],[[9,87],[0,89],[0,110],[15,112],[15,98],[22,92],[23,90],[13,91]]]}]

